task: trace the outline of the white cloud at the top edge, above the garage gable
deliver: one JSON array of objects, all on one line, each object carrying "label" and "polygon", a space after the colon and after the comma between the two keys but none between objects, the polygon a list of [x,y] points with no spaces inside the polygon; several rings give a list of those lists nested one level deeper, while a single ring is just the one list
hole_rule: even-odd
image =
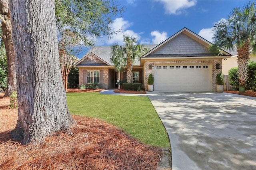
[{"label": "white cloud at the top edge, above the garage gable", "polygon": [[181,14],[182,10],[196,5],[196,0],[159,0],[166,14]]}]

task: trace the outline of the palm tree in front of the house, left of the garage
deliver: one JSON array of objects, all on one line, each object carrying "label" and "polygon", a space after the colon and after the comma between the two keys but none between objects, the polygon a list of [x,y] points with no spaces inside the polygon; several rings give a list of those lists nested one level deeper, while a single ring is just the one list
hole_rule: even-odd
[{"label": "palm tree in front of the house, left of the garage", "polygon": [[111,46],[110,61],[114,64],[117,71],[127,68],[127,82],[132,82],[132,65],[136,60],[146,54],[149,49],[144,45],[138,44],[138,40],[129,34],[123,35],[124,45],[115,43]]}]

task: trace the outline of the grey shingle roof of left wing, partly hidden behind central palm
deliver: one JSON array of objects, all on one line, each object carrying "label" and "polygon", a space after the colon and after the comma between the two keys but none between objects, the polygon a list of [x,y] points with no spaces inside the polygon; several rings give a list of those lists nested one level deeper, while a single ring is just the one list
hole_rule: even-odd
[{"label": "grey shingle roof of left wing, partly hidden behind central palm", "polygon": [[[156,47],[157,44],[154,45],[144,45],[144,47],[149,48],[150,50],[153,49],[154,47]],[[110,53],[111,53],[111,46],[95,46],[92,47],[81,59],[80,61],[82,61],[88,54],[90,53],[94,53],[95,55],[97,55],[100,59],[102,59],[103,61],[105,61],[106,63],[112,65],[112,63],[110,62]],[[79,65],[80,62],[78,62]],[[78,66],[76,65],[76,66]],[[136,61],[136,63],[134,65],[140,65],[140,61]]]}]

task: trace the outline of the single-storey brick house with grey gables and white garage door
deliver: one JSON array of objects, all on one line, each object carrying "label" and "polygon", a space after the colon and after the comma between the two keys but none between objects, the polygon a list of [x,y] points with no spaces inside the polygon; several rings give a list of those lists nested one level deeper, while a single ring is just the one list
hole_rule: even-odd
[{"label": "single-storey brick house with grey gables and white garage door", "polygon": [[[150,73],[154,76],[155,91],[216,91],[216,75],[220,73],[224,51],[214,56],[207,47],[211,43],[198,34],[183,28],[158,45],[146,45],[148,53],[134,63],[133,81],[147,89]],[[116,87],[118,79],[126,79],[126,71],[116,72],[110,63],[110,46],[94,47],[78,61],[79,84],[97,82],[105,88]]]}]

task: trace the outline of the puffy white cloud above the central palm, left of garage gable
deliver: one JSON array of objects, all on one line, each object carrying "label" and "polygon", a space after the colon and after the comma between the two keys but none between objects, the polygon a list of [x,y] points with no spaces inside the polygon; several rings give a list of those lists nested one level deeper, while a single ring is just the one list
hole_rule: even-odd
[{"label": "puffy white cloud above the central palm, left of garage gable", "polygon": [[98,39],[96,45],[112,45],[113,43],[118,43],[119,45],[123,44],[122,38],[124,34],[130,34],[134,36],[138,40],[140,40],[140,34],[134,32],[133,30],[128,30],[128,28],[132,26],[132,23],[124,20],[123,18],[116,18],[112,24],[110,24],[110,28],[114,31],[119,31],[117,34],[112,35],[111,39],[106,37]]}]

